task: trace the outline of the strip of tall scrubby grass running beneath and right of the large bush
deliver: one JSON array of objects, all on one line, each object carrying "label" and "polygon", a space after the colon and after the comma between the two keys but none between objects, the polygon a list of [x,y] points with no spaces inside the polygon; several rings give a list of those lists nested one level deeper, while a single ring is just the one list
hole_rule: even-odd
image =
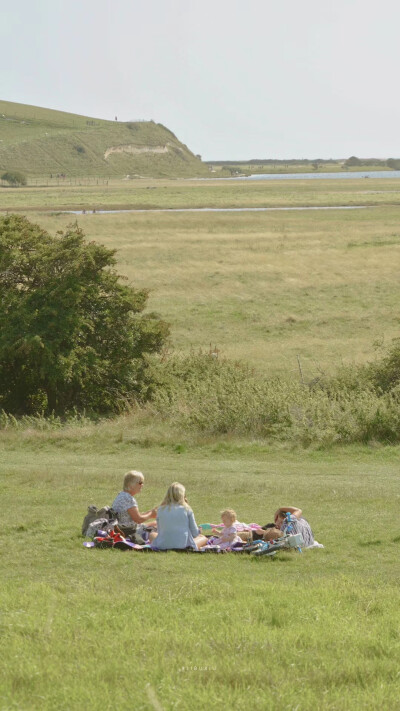
[{"label": "strip of tall scrubby grass running beneath and right of the large bush", "polygon": [[[309,384],[268,378],[249,366],[208,354],[153,361],[146,396],[128,415],[100,426],[124,429],[127,417],[141,441],[253,438],[319,447],[400,441],[400,386],[395,356],[381,366],[347,367]],[[121,410],[123,409],[121,405]],[[0,429],[59,433],[93,429],[96,418],[78,412],[65,418],[15,418],[0,412]],[[120,424],[118,424],[120,423]],[[63,431],[64,430],[64,431]],[[68,432],[70,435],[68,435]]]}]

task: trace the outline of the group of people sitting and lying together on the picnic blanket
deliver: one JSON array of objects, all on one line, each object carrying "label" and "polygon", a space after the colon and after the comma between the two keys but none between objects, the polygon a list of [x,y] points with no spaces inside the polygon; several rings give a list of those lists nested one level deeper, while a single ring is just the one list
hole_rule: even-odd
[{"label": "group of people sitting and lying together on the picnic blanket", "polygon": [[243,545],[243,542],[258,539],[277,540],[285,535],[288,513],[292,514],[291,533],[301,533],[305,548],[315,545],[310,524],[302,517],[301,509],[295,506],[281,506],[275,512],[274,522],[265,526],[240,523],[233,509],[225,509],[221,512],[221,525],[203,526],[211,529],[212,535],[207,537],[202,527],[196,523],[182,484],[171,484],[160,506],[141,513],[135,497],[142,491],[143,485],[142,472],[127,472],[123,490],[114,499],[112,509],[117,514],[121,528],[129,529],[135,524],[141,525],[141,528],[145,527],[149,532],[149,543],[154,550],[199,550],[207,545],[219,546],[221,550],[232,550]]}]

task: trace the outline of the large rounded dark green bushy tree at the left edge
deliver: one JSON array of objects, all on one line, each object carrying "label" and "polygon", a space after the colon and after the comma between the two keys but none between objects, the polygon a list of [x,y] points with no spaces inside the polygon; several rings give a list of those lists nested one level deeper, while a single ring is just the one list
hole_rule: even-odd
[{"label": "large rounded dark green bushy tree at the left edge", "polygon": [[143,395],[168,326],[143,313],[148,293],[121,283],[114,254],[77,225],[53,237],[0,218],[0,407],[110,412]]}]

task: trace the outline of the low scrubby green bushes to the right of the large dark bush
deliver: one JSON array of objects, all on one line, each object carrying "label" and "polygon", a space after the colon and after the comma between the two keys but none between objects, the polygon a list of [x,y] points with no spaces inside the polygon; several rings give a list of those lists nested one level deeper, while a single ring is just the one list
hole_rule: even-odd
[{"label": "low scrubby green bushes to the right of the large dark bush", "polygon": [[[394,357],[386,362],[393,364]],[[375,366],[353,366],[302,385],[212,354],[175,357],[155,367],[152,407],[185,432],[212,436],[302,446],[399,442],[400,386],[378,392],[376,373]],[[400,368],[397,375],[400,382]]]}]

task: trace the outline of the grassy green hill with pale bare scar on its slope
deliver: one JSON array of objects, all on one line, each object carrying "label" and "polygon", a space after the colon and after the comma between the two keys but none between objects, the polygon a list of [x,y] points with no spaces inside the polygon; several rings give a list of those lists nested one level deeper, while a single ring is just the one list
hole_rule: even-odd
[{"label": "grassy green hill with pale bare scar on its slope", "polygon": [[165,126],[0,101],[0,174],[196,177],[208,168]]}]

